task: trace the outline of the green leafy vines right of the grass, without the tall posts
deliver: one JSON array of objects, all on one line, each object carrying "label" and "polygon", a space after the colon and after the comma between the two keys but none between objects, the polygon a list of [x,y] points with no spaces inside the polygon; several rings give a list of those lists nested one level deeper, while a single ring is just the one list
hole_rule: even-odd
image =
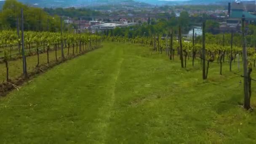
[{"label": "green leafy vines right of the grass, without the tall posts", "polygon": [[[158,51],[159,53],[165,53],[168,55],[170,60],[174,60],[174,56],[178,56],[181,59],[181,52],[183,53],[182,59],[184,59],[184,66],[187,66],[187,61],[192,61],[192,66],[194,66],[195,60],[200,60],[200,65],[202,65],[202,36],[195,37],[194,40],[186,41],[184,39],[179,43],[179,39],[173,40],[173,35],[168,37],[157,38],[157,37],[136,37],[134,39],[128,39],[124,37],[107,37],[105,38],[110,42],[119,43],[132,43],[147,45],[153,48],[153,51]],[[167,38],[168,37],[168,38]],[[219,74],[222,75],[222,64],[230,64],[230,71],[232,71],[232,63],[241,64],[243,62],[243,48],[242,48],[242,37],[237,34],[223,34],[223,35],[211,35],[207,34],[205,41],[205,53],[207,61],[207,72],[211,63],[219,64]],[[181,49],[182,48],[182,49]],[[256,44],[247,45],[247,55],[248,55],[248,65],[251,68],[255,68],[256,61]]]}]

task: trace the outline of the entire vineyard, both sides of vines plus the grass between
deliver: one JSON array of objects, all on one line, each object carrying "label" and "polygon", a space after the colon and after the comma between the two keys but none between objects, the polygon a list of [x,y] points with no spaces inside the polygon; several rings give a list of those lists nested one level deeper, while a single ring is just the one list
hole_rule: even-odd
[{"label": "entire vineyard, both sides of vines plus the grass between", "polygon": [[255,143],[254,35],[19,35],[1,32],[3,143]]}]

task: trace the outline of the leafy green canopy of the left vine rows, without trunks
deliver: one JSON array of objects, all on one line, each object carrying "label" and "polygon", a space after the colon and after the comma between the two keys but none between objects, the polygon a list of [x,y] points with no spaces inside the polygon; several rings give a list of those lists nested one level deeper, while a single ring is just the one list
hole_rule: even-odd
[{"label": "leafy green canopy of the left vine rows, without trunks", "polygon": [[[79,47],[79,51],[82,51],[81,46],[88,45],[87,47],[91,47],[91,45],[96,45],[96,42],[98,43],[99,40],[101,40],[100,36],[88,34],[79,35],[64,33],[61,35],[59,32],[32,31],[24,33],[25,54],[27,56],[33,54],[37,49],[43,53],[47,50],[47,48],[60,48],[61,41],[65,43],[65,47]],[[8,57],[15,58],[15,56],[21,55],[21,44],[21,39],[17,36],[16,31],[1,31],[0,53],[5,52]]]}]

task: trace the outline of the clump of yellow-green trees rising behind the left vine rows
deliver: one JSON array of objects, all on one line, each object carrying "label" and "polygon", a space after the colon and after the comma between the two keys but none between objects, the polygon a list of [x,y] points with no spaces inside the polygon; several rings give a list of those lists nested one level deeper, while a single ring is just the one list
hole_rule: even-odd
[{"label": "clump of yellow-green trees rising behind the left vine rows", "polygon": [[0,29],[16,29],[21,27],[21,8],[24,12],[24,30],[60,31],[60,17],[50,16],[41,8],[30,7],[17,0],[6,0],[0,13]]}]

